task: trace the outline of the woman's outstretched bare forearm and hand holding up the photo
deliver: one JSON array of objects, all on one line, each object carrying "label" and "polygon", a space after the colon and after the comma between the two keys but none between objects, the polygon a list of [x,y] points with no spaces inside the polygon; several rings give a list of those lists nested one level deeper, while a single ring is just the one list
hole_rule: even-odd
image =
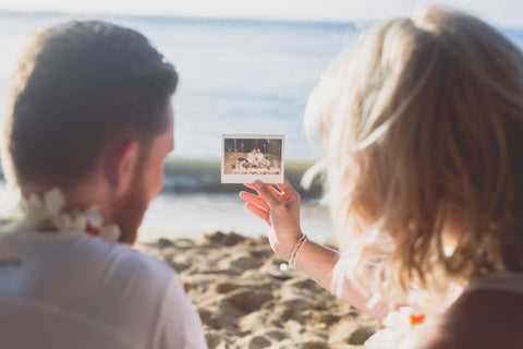
[{"label": "woman's outstretched bare forearm and hand holding up the photo", "polygon": [[[269,243],[275,253],[289,261],[294,245],[303,236],[300,227],[300,194],[287,179],[283,184],[278,184],[278,190],[260,181],[245,185],[259,195],[241,192],[240,197],[247,202],[245,206],[248,210],[267,222]],[[332,292],[332,270],[338,258],[338,252],[308,241],[299,255],[296,269]],[[343,284],[341,297],[353,306],[379,320],[385,318],[388,313],[388,308],[384,304],[368,309],[366,306],[368,299],[353,289],[348,281]]]}]

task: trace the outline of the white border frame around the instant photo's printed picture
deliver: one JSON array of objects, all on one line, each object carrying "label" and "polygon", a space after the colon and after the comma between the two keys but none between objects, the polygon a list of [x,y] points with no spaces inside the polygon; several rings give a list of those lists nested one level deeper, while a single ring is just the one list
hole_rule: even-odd
[{"label": "white border frame around the instant photo's printed picture", "polygon": [[[280,140],[281,141],[281,172],[280,174],[226,174],[226,140]],[[267,184],[281,184],[284,177],[284,153],[285,153],[285,135],[284,134],[222,134],[221,135],[221,183],[254,183],[257,180]]]}]

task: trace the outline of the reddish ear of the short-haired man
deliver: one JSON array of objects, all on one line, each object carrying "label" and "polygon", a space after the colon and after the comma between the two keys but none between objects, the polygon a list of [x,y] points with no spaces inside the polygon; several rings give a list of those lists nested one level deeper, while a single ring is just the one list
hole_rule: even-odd
[{"label": "reddish ear of the short-haired man", "polygon": [[131,181],[139,157],[138,143],[134,139],[120,139],[106,149],[102,157],[102,172],[108,185],[117,195],[125,193]]}]

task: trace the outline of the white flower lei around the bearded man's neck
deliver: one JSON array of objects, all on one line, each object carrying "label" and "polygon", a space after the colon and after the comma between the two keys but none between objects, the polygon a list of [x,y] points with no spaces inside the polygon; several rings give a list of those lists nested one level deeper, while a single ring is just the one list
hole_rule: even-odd
[{"label": "white flower lei around the bearded man's neck", "polygon": [[104,218],[94,207],[84,212],[63,212],[65,195],[58,188],[48,190],[41,198],[36,194],[26,198],[20,188],[8,188],[2,201],[0,234],[41,229],[59,232],[87,231],[88,226],[107,241],[115,242],[121,234],[117,225],[104,226]]}]

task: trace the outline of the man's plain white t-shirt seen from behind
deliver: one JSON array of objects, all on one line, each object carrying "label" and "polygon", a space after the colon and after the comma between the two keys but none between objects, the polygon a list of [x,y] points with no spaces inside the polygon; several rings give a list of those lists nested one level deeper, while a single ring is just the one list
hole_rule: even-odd
[{"label": "man's plain white t-shirt seen from behind", "polygon": [[0,348],[207,348],[177,274],[85,232],[0,237]]}]

